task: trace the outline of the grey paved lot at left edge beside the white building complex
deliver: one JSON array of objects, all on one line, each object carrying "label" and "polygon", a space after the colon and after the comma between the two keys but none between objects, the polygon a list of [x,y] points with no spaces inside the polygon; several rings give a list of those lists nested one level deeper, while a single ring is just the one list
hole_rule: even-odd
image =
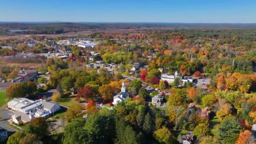
[{"label": "grey paved lot at left edge beside the white building complex", "polygon": [[8,120],[11,118],[11,111],[8,111],[6,109],[0,109],[0,127],[6,129],[9,132],[16,132],[15,129],[8,127],[6,124],[8,123]]}]

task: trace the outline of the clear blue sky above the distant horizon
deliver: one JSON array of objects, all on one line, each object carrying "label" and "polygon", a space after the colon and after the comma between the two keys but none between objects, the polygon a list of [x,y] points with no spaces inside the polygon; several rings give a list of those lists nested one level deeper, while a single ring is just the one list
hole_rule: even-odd
[{"label": "clear blue sky above the distant horizon", "polygon": [[256,0],[0,0],[0,21],[256,23]]}]

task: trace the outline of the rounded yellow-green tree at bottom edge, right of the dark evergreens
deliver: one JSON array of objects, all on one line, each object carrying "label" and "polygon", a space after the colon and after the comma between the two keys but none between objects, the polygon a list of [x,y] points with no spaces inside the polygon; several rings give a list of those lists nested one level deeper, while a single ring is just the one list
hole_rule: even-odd
[{"label": "rounded yellow-green tree at bottom edge, right of the dark evergreens", "polygon": [[166,127],[155,131],[153,136],[160,144],[173,144],[172,133]]}]

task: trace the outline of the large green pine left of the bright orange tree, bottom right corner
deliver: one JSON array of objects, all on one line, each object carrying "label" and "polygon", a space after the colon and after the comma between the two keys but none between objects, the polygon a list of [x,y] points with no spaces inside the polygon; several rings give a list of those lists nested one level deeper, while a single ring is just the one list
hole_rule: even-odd
[{"label": "large green pine left of the bright orange tree, bottom right corner", "polygon": [[217,137],[221,140],[223,144],[234,144],[238,138],[239,133],[242,131],[241,125],[235,119],[235,117],[230,117],[224,119],[218,129]]}]

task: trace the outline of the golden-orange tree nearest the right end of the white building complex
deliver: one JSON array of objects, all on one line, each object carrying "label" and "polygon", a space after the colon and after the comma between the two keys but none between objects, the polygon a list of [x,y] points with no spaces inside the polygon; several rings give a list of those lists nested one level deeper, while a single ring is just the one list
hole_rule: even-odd
[{"label": "golden-orange tree nearest the right end of the white building complex", "polygon": [[65,114],[65,120],[67,120],[67,122],[71,122],[72,119],[83,117],[82,111],[84,109],[85,107],[83,104],[75,104],[74,106],[69,107]]}]

